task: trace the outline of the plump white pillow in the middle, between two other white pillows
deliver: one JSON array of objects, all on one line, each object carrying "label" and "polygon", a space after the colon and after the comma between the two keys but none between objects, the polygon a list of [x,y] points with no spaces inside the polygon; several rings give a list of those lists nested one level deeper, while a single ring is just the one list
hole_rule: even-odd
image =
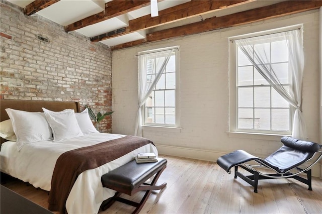
[{"label": "plump white pillow in the middle, between two other white pillows", "polygon": [[84,136],[78,126],[74,110],[66,109],[61,112],[52,112],[45,108],[42,108],[42,110],[51,127],[54,141]]}]

